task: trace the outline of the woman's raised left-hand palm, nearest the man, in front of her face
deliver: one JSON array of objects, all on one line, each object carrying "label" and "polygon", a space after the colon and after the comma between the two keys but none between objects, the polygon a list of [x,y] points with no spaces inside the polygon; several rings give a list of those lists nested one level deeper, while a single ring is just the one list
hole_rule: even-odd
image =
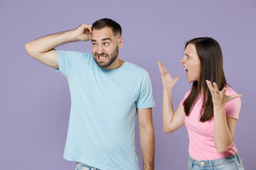
[{"label": "woman's raised left-hand palm, nearest the man, in front of her face", "polygon": [[172,89],[174,87],[174,84],[176,84],[176,82],[178,81],[179,77],[176,77],[175,79],[171,78],[171,75],[169,74],[167,69],[164,67],[164,65],[161,64],[160,61],[157,61],[157,63],[159,65],[159,70],[161,73],[161,81],[163,84],[163,89],[164,90]]}]

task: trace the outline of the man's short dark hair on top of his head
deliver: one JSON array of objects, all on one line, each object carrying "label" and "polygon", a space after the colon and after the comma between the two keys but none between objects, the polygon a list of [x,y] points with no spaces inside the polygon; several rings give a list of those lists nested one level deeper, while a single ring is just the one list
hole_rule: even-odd
[{"label": "man's short dark hair on top of his head", "polygon": [[105,27],[112,28],[112,31],[113,31],[114,35],[117,35],[117,33],[122,35],[122,28],[119,25],[119,23],[117,23],[117,21],[114,21],[110,18],[102,18],[102,19],[92,23],[92,30],[94,30],[94,29],[95,30],[100,30],[100,29],[105,28]]}]

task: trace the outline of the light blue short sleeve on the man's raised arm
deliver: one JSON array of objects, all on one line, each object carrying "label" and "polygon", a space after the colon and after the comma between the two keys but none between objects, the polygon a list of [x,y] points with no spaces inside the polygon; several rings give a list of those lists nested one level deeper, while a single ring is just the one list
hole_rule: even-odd
[{"label": "light blue short sleeve on the man's raised arm", "polygon": [[57,72],[61,72],[65,77],[68,78],[70,72],[72,72],[75,64],[78,63],[78,60],[82,57],[82,52],[74,51],[63,51],[56,50],[58,54],[58,65],[59,69],[55,69]]}]

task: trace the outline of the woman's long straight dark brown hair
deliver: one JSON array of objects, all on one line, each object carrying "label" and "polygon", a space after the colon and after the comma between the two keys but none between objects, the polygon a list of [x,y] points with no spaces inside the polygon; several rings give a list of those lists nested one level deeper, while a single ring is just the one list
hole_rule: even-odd
[{"label": "woman's long straight dark brown hair", "polygon": [[[186,115],[189,115],[198,100],[199,95],[203,95],[203,105],[201,108],[201,122],[206,122],[213,118],[213,100],[206,84],[206,80],[215,82],[218,89],[222,90],[226,85],[223,72],[223,55],[220,45],[213,38],[194,38],[186,43],[196,46],[196,52],[201,62],[201,74],[199,81],[193,81],[191,93],[183,102]],[[186,49],[185,46],[185,49]]]}]

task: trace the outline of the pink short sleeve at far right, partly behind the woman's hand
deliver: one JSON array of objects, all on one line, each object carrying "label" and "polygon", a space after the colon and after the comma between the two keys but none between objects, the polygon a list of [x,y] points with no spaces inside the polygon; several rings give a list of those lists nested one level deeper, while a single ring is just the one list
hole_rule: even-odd
[{"label": "pink short sleeve at far right, partly behind the woman's hand", "polygon": [[[226,92],[226,95],[228,96],[233,94],[236,94],[235,91]],[[228,103],[225,104],[225,114],[227,117],[235,118],[238,120],[240,108],[241,98],[234,98],[233,100],[228,101]]]}]

